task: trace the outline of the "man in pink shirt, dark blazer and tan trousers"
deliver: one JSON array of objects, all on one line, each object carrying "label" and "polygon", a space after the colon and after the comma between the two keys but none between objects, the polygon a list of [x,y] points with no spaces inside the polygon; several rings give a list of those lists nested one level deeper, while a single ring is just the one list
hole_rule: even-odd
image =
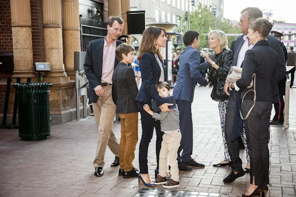
[{"label": "man in pink shirt, dark blazer and tan trousers", "polygon": [[106,146],[115,154],[111,167],[119,165],[119,141],[112,131],[116,106],[112,101],[112,74],[118,65],[115,49],[121,44],[117,40],[123,29],[120,17],[110,17],[107,36],[93,40],[87,48],[84,69],[89,80],[88,97],[93,103],[99,139],[94,160],[95,176],[103,176]]}]

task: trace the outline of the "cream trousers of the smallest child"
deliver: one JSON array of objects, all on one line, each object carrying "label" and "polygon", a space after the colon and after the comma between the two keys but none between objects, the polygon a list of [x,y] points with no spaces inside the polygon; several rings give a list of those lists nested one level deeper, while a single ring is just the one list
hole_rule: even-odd
[{"label": "cream trousers of the smallest child", "polygon": [[181,131],[172,131],[170,134],[162,136],[161,149],[159,154],[159,175],[162,177],[167,176],[167,160],[171,166],[171,179],[179,181],[179,168],[178,168],[178,149],[181,142]]}]

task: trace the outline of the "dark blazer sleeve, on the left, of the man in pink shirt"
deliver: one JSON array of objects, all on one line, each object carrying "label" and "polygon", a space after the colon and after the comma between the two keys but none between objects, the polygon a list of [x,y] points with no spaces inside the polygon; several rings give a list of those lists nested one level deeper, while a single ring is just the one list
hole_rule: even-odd
[{"label": "dark blazer sleeve, on the left, of the man in pink shirt", "polygon": [[85,69],[85,74],[89,80],[90,88],[94,89],[97,87],[100,82],[98,81],[96,74],[93,69],[93,49],[92,49],[92,42],[89,43],[87,47],[87,53],[86,57],[84,60],[84,69]]}]

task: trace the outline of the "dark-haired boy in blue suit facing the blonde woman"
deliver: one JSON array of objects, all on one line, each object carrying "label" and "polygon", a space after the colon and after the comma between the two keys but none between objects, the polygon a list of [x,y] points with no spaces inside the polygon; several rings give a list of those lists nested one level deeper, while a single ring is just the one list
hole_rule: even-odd
[{"label": "dark-haired boy in blue suit facing the blonde woman", "polygon": [[[183,42],[187,46],[183,51],[180,62],[177,85],[174,87],[174,98],[180,111],[180,130],[182,133],[181,145],[178,150],[178,166],[180,171],[190,171],[192,168],[204,168],[203,164],[197,163],[192,157],[193,151],[193,123],[191,104],[197,83],[207,85],[208,81],[200,74],[207,66],[200,66],[199,33],[187,31],[183,36]],[[182,156],[180,152],[182,151]]]}]

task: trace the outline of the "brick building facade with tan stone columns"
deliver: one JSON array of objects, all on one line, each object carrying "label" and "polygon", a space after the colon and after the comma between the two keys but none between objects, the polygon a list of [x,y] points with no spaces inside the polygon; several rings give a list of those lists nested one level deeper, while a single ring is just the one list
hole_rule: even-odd
[{"label": "brick building facade with tan stone columns", "polygon": [[[34,65],[49,62],[51,71],[43,81],[52,82],[50,114],[52,124],[75,120],[74,51],[80,51],[80,9],[101,6],[103,21],[129,9],[129,0],[0,0],[0,56],[13,54],[13,72],[0,73],[0,121],[3,117],[6,78],[27,77],[39,81]],[[108,4],[110,6],[108,6]],[[121,6],[124,4],[124,8]],[[83,5],[83,6],[81,6]],[[127,5],[127,6],[126,6]],[[1,66],[1,65],[0,65]],[[12,117],[15,90],[10,86],[8,115]]]}]

